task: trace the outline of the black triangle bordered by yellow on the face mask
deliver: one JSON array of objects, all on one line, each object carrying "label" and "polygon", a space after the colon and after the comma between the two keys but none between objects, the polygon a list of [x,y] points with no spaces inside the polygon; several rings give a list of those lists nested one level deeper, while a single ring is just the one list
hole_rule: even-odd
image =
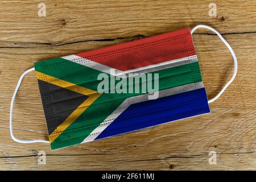
[{"label": "black triangle bordered by yellow on the face mask", "polygon": [[88,96],[38,80],[44,115],[51,134]]}]

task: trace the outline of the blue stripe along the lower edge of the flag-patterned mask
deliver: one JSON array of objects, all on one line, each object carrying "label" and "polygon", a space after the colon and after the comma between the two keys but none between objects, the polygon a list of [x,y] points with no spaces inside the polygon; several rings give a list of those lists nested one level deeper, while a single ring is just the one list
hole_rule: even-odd
[{"label": "blue stripe along the lower edge of the flag-patterned mask", "polygon": [[210,113],[205,88],[130,105],[97,139]]}]

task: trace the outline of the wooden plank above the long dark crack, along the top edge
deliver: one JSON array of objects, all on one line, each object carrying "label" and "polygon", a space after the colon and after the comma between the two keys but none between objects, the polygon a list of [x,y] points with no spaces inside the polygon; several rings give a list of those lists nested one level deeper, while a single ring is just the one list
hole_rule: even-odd
[{"label": "wooden plank above the long dark crack, along the top edge", "polygon": [[255,32],[255,0],[217,1],[217,17],[208,14],[211,0],[42,2],[46,17],[38,17],[38,0],[0,2],[0,47],[152,36],[199,23],[222,34]]}]

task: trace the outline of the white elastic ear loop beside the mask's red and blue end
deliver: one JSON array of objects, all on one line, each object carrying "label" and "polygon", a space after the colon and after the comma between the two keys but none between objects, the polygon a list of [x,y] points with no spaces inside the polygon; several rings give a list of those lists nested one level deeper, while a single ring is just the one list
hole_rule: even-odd
[{"label": "white elastic ear loop beside the mask's red and blue end", "polygon": [[228,81],[228,83],[224,86],[224,88],[221,89],[221,91],[217,94],[217,96],[213,97],[211,100],[208,101],[208,103],[211,103],[213,101],[215,101],[218,97],[221,96],[221,94],[225,91],[226,88],[228,88],[228,86],[231,84],[231,82],[234,80],[234,78],[236,77],[237,75],[237,57],[232,49],[232,47],[229,45],[228,42],[226,42],[226,40],[222,37],[222,35],[217,31],[215,30],[214,28],[212,27],[209,27],[207,25],[204,25],[204,24],[199,24],[195,27],[192,28],[191,30],[191,34],[193,34],[193,32],[197,29],[197,28],[207,28],[211,31],[213,31],[215,34],[217,34],[220,39],[222,40],[222,42],[224,42],[224,44],[226,45],[226,47],[228,47],[229,51],[231,52],[232,56],[233,56],[233,60],[234,60],[234,73],[233,73],[233,76],[232,78]]}]

